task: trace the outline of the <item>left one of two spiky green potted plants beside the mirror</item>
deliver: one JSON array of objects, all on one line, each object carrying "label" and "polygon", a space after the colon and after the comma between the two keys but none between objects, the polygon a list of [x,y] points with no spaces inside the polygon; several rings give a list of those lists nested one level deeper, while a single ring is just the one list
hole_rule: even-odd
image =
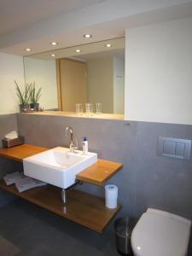
[{"label": "left one of two spiky green potted plants beside the mirror", "polygon": [[31,84],[25,84],[24,90],[20,90],[19,85],[16,83],[16,95],[20,100],[20,112],[26,112],[29,109],[29,100],[31,95]]}]

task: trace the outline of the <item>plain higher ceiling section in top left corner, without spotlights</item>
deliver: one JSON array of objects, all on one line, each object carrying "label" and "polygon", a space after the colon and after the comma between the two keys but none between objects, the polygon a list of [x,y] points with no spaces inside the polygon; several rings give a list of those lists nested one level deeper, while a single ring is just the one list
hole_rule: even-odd
[{"label": "plain higher ceiling section in top left corner, without spotlights", "polygon": [[67,14],[101,0],[0,0],[0,35]]}]

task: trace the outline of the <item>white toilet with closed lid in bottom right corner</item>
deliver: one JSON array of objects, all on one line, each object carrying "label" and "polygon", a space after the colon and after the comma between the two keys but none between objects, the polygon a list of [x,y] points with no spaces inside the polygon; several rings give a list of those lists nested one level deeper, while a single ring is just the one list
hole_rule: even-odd
[{"label": "white toilet with closed lid in bottom right corner", "polygon": [[148,208],[131,234],[134,256],[187,256],[191,221]]}]

